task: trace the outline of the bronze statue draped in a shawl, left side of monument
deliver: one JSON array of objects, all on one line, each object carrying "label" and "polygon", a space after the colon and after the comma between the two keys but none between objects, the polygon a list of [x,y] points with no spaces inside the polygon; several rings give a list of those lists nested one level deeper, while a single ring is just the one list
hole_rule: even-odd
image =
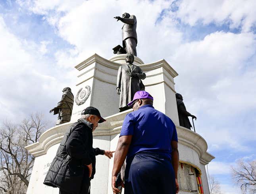
[{"label": "bronze statue draped in a shawl, left side of monument", "polygon": [[65,87],[62,92],[62,100],[58,102],[56,107],[50,110],[50,113],[54,111],[54,115],[59,114],[56,125],[70,121],[74,104],[74,95],[72,94],[71,89]]}]

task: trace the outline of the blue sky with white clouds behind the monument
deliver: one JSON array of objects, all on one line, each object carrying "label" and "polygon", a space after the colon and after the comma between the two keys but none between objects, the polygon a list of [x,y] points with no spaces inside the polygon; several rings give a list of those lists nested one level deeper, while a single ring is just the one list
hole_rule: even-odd
[{"label": "blue sky with white clouds behind the monument", "polygon": [[137,17],[137,53],[165,59],[175,90],[198,118],[196,132],[216,158],[210,175],[225,194],[240,159],[256,160],[255,0],[0,0],[0,122],[49,111],[75,86],[74,66],[94,53],[112,57],[121,22]]}]

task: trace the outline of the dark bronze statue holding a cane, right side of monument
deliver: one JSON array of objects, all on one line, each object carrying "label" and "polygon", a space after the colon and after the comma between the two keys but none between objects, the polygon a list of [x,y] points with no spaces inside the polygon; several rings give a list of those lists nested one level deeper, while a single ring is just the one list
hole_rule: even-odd
[{"label": "dark bronze statue holding a cane, right side of monument", "polygon": [[192,117],[192,119],[196,119],[196,116],[191,115],[186,110],[185,104],[183,102],[183,97],[181,96],[181,94],[176,93],[175,95],[176,95],[176,102],[177,102],[178,115],[179,115],[179,125],[191,130],[192,126],[189,121],[189,117]]}]

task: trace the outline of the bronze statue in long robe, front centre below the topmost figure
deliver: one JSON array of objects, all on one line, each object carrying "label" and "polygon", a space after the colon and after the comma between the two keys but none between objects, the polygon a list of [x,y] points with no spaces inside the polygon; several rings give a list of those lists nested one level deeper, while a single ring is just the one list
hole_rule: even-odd
[{"label": "bronze statue in long robe, front centre below the topmost figure", "polygon": [[145,89],[141,79],[145,79],[146,74],[133,64],[134,56],[127,54],[125,61],[126,65],[119,66],[116,83],[117,94],[120,95],[120,112],[130,109],[127,104],[133,100],[135,92]]}]

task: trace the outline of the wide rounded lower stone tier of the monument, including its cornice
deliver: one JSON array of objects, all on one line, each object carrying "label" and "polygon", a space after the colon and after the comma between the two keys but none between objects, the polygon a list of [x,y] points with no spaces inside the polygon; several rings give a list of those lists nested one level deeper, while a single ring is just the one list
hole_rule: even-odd
[{"label": "wide rounded lower stone tier of the monument, including its cornice", "polygon": [[[104,150],[115,150],[123,119],[131,111],[132,109],[106,117],[107,122],[99,124],[98,128],[93,132],[93,147],[99,147]],[[71,124],[72,122],[69,122],[50,128],[42,134],[39,142],[26,147],[31,154],[36,156],[27,194],[59,193],[58,188],[43,185],[43,181],[60,145],[60,141]],[[176,126],[176,128],[179,141],[179,159],[181,162],[179,165],[180,193],[191,193],[191,190],[197,189],[196,177],[189,177],[187,174],[190,171],[193,173],[195,170],[198,170],[202,178],[204,193],[208,194],[208,182],[204,166],[214,157],[206,152],[206,141],[200,135],[181,126]],[[113,158],[110,160],[106,156],[96,156],[96,174],[91,181],[91,193],[113,193],[110,184],[113,163]],[[188,177],[189,179],[187,179]],[[194,188],[189,188],[189,186]]]}]

